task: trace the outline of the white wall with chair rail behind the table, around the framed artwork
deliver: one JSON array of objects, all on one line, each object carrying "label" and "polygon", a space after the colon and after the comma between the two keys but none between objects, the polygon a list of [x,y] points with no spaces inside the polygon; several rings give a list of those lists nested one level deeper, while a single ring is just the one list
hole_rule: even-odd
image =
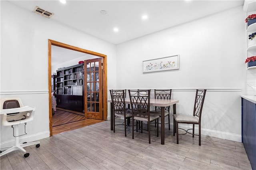
[{"label": "white wall with chair rail behind the table, around the framed artwork", "polygon": [[[193,109],[194,89],[206,88],[202,134],[241,141],[244,19],[240,6],[117,45],[117,87],[174,89],[172,99],[180,101],[177,113],[186,114]],[[142,61],[176,54],[179,70],[142,73]]]}]

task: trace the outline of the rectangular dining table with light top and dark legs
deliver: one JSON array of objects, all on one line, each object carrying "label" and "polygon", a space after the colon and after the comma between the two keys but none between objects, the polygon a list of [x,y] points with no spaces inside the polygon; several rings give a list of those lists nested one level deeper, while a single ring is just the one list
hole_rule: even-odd
[{"label": "rectangular dining table with light top and dark legs", "polygon": [[[112,100],[107,100],[110,103],[110,130],[113,130],[113,106],[112,106]],[[130,98],[126,97],[124,99],[125,103],[130,105]],[[173,106],[173,114],[176,114],[176,103],[179,103],[179,100],[175,99],[150,99],[150,106],[159,106],[161,107],[161,144],[164,144],[164,107]]]}]

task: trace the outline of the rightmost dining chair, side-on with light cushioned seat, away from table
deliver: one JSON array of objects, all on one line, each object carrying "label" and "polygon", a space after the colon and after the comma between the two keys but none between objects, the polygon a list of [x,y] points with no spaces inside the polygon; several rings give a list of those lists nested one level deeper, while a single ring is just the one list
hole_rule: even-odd
[{"label": "rightmost dining chair, side-on with light cushioned seat, away from table", "polygon": [[[176,127],[176,130],[173,130],[173,135],[175,136],[175,131],[177,133],[177,144],[179,144],[179,131],[178,131],[178,124],[179,123],[186,123],[186,124],[193,124],[193,128],[190,128],[188,130],[192,129],[192,133],[188,132],[188,130],[185,130],[186,133],[192,134],[192,137],[194,138],[194,135],[199,136],[199,146],[201,146],[201,115],[202,115],[202,109],[204,105],[204,98],[206,94],[206,89],[204,90],[196,90],[196,98],[194,103],[194,112],[192,115],[182,115],[182,114],[174,114],[174,129]],[[195,125],[198,125],[198,134],[195,134]],[[180,128],[182,129],[182,128]],[[184,129],[182,129],[184,130]],[[185,133],[185,134],[186,134]]]}]

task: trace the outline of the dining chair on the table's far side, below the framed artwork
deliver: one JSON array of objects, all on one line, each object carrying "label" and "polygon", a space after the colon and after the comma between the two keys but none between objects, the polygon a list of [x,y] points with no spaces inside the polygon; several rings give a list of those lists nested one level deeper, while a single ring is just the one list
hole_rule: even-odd
[{"label": "dining chair on the table's far side, below the framed artwork", "polygon": [[[157,90],[155,89],[155,99],[171,99],[172,89]],[[161,107],[156,106],[154,112],[161,117]],[[164,107],[164,117],[168,116],[168,126],[170,130],[170,106]],[[166,123],[165,123],[166,124]],[[156,122],[155,122],[156,126]]]}]

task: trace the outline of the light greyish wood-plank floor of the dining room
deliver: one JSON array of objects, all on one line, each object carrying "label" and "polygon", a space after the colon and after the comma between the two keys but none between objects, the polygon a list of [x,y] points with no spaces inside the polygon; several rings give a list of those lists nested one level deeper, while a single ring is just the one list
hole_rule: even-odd
[{"label": "light greyish wood-plank floor of the dining room", "polygon": [[[116,119],[117,120],[117,119]],[[122,120],[121,120],[122,121]],[[154,128],[154,125],[152,125]],[[173,131],[166,128],[165,144],[161,145],[160,135],[151,132],[148,144],[146,130],[141,134],[128,127],[110,130],[110,121],[104,121],[69,132],[63,132],[40,141],[40,147],[28,146],[30,156],[23,157],[20,151],[13,151],[1,157],[1,170],[249,170],[250,162],[240,142],[190,134],[180,135],[176,144]]]}]

